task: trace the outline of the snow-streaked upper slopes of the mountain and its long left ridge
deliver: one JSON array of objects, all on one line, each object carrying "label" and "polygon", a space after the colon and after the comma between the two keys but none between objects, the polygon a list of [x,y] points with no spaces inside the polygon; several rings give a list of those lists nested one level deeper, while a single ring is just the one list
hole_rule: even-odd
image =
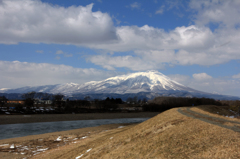
[{"label": "snow-streaked upper slopes of the mountain and its long left ridge", "polygon": [[2,93],[26,93],[30,91],[46,93],[62,93],[71,95],[76,93],[139,93],[160,91],[196,91],[171,80],[158,71],[137,72],[127,75],[111,77],[103,81],[91,81],[79,85],[76,83],[65,83],[57,85],[46,85],[39,87],[22,87],[18,89],[1,90]]}]

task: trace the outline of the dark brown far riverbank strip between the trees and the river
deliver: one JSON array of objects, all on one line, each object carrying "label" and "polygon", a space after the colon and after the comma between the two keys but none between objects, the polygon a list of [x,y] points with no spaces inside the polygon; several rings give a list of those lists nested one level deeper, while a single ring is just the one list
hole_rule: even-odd
[{"label": "dark brown far riverbank strip between the trees and the river", "polygon": [[152,118],[157,114],[159,114],[159,112],[0,115],[0,125],[18,124],[18,123],[53,122],[53,121],[72,121],[72,120]]}]

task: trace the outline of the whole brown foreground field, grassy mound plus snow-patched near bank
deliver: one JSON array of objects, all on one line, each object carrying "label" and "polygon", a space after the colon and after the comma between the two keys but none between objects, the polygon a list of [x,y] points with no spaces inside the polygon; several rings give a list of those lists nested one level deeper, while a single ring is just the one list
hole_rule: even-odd
[{"label": "whole brown foreground field, grassy mound plus snow-patched near bank", "polygon": [[[0,145],[9,144],[0,155],[63,159],[240,158],[240,120],[219,115],[226,111],[216,106],[174,108],[140,124],[0,140]],[[11,149],[13,144],[15,148]]]}]

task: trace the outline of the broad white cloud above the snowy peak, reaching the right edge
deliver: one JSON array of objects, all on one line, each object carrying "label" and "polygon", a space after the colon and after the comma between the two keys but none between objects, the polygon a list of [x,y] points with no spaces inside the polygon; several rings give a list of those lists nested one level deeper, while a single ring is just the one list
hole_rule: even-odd
[{"label": "broad white cloud above the snowy peak, reaching the right edge", "polygon": [[[143,27],[122,26],[117,28],[118,43],[108,43],[101,45],[88,45],[92,48],[115,51],[131,51],[136,56],[132,56],[132,61],[136,58],[142,60],[142,64],[150,66],[159,65],[215,65],[228,62],[232,59],[240,59],[240,33],[234,31],[233,34],[221,32],[214,34],[207,27],[177,27],[175,30],[165,32],[162,29],[153,28],[148,25]],[[227,41],[227,43],[226,43]],[[229,42],[231,41],[231,42]],[[222,45],[224,44],[224,45]],[[96,64],[96,61],[92,61]],[[106,61],[105,65],[110,64]],[[115,65],[112,67],[120,67]],[[129,63],[124,67],[132,68]],[[162,67],[161,67],[162,68]],[[139,70],[147,70],[144,65],[140,65]],[[157,68],[155,68],[157,69]]]}]

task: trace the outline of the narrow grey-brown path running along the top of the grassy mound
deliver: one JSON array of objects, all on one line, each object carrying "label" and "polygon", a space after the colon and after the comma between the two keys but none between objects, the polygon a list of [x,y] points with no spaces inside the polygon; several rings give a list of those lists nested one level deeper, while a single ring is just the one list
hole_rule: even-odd
[{"label": "narrow grey-brown path running along the top of the grassy mound", "polygon": [[201,121],[214,124],[214,125],[240,133],[240,122],[213,117],[207,114],[202,114],[202,113],[191,110],[191,108],[179,108],[178,112],[188,117],[199,119]]}]

